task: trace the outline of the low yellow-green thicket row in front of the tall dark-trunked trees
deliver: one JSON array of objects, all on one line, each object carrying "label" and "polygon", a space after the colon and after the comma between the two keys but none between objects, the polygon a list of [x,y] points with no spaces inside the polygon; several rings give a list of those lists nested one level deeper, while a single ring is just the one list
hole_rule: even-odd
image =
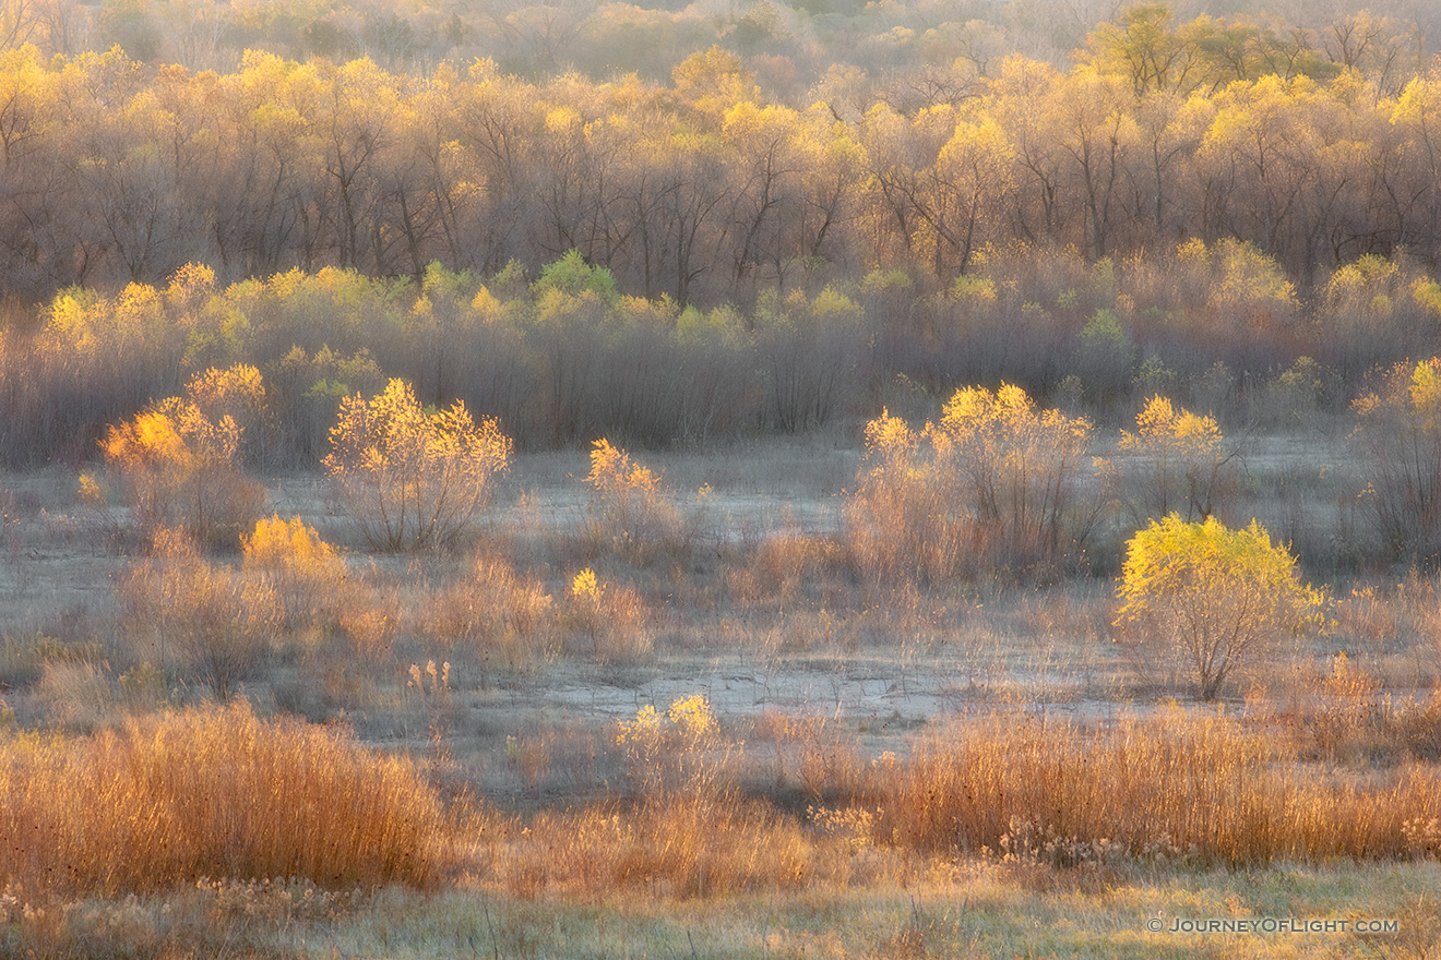
[{"label": "low yellow-green thicket row in front of the tall dark-trunked trees", "polygon": [[499,417],[527,448],[797,432],[885,407],[924,417],[957,384],[999,381],[1112,423],[1161,393],[1288,426],[1441,350],[1441,284],[1366,256],[1303,301],[1235,240],[1097,262],[1014,243],[934,294],[876,269],[700,309],[624,295],[572,250],[533,279],[432,263],[418,284],[324,268],[223,285],[187,265],[164,285],[63,291],[30,327],[0,337],[6,466],[95,459],[108,426],[244,364],[264,384],[245,404],[246,461],[314,468],[342,397],[391,377],[422,403]]}]

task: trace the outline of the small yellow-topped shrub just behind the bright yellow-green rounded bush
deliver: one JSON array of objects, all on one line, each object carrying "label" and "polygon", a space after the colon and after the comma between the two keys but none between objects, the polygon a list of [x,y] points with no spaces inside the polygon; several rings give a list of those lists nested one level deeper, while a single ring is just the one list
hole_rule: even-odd
[{"label": "small yellow-topped shrub just behind the bright yellow-green rounded bush", "polygon": [[1229,492],[1235,450],[1226,449],[1216,417],[1177,407],[1160,394],[1136,415],[1136,433],[1121,430],[1121,450],[1140,461],[1138,482],[1121,489],[1137,524],[1172,511],[1187,521],[1205,520]]}]

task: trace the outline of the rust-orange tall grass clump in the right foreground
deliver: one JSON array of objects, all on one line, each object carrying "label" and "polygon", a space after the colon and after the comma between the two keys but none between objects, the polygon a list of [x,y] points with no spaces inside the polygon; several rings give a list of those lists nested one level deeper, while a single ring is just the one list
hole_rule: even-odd
[{"label": "rust-orange tall grass clump in the right foreground", "polygon": [[1179,711],[1098,731],[1043,718],[954,728],[891,783],[879,836],[996,852],[1025,832],[1046,838],[1059,864],[1104,849],[1233,865],[1406,856],[1405,825],[1441,812],[1435,769],[1331,777],[1233,721]]}]

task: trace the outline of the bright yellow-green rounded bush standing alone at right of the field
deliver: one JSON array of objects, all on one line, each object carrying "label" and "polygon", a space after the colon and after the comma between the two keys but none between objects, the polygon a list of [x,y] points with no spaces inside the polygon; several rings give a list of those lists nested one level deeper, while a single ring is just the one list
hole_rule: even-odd
[{"label": "bright yellow-green rounded bush standing alone at right of the field", "polygon": [[1213,517],[1186,522],[1177,514],[1130,540],[1117,596],[1133,661],[1143,671],[1183,661],[1202,699],[1215,699],[1282,636],[1317,625],[1323,604],[1295,558],[1255,521],[1228,530]]}]

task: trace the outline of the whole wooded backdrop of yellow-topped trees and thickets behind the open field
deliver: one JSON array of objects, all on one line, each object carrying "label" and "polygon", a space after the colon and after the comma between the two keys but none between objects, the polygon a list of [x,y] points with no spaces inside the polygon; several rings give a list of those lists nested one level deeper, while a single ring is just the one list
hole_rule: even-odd
[{"label": "whole wooded backdrop of yellow-topped trees and thickets behind the open field", "polygon": [[533,448],[1000,381],[1275,423],[1441,350],[1429,7],[56,3],[0,33],[4,463],[210,366],[313,466],[392,377]]}]

